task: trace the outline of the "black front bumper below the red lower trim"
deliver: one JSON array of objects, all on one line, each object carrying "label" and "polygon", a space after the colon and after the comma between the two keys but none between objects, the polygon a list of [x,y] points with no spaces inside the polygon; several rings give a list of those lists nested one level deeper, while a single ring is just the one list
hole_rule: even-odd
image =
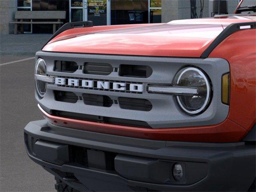
[{"label": "black front bumper below the red lower trim", "polygon": [[[49,126],[24,129],[28,156],[80,191],[247,191],[255,178],[255,143],[142,140]],[[176,181],[174,164],[184,169]]]}]

